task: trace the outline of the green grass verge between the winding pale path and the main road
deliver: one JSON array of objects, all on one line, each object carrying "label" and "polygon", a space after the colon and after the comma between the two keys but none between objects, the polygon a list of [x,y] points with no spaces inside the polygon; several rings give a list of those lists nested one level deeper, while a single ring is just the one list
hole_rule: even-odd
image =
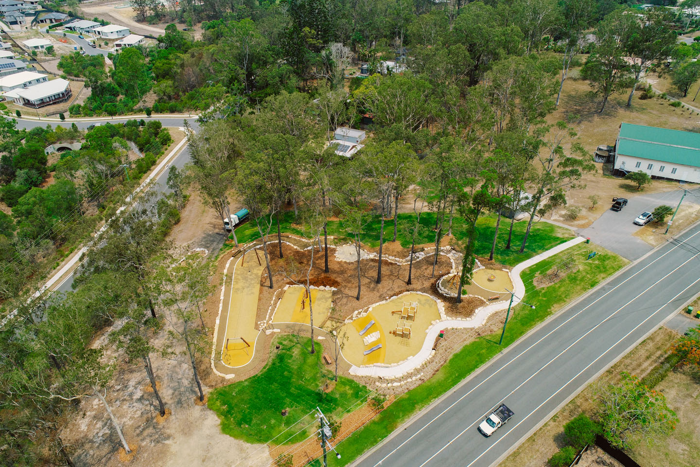
[{"label": "green grass verge between the winding pale path and the main road", "polygon": [[[591,250],[596,251],[597,255],[591,260],[587,260]],[[571,272],[553,284],[541,288],[535,287],[533,284],[535,277],[539,274],[547,274],[553,267],[558,267],[569,259],[573,259]],[[524,305],[514,307],[503,346],[512,344],[536,324],[544,321],[568,302],[617,272],[626,263],[623,258],[600,246],[580,244],[524,270],[521,277],[526,285],[525,301],[535,305],[535,309]],[[466,344],[427,382],[400,396],[363,428],[340,442],[337,448],[342,452],[342,459],[333,457],[329,459],[328,465],[345,466],[351,463],[367,449],[386,438],[412,414],[442,396],[479,366],[493,358],[503,349],[503,347],[498,346],[498,337],[500,337],[500,333],[485,335],[479,340]]]}]

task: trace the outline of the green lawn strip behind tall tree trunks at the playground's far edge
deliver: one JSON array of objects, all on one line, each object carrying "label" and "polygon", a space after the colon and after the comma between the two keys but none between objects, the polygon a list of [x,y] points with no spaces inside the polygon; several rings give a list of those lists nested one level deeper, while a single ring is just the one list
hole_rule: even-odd
[{"label": "green lawn strip behind tall tree trunks at the playground's far edge", "polygon": [[[405,232],[400,228],[402,221],[410,221],[415,218],[415,214],[399,214],[399,230],[397,239],[401,246],[409,248],[411,246],[410,240],[406,237]],[[304,232],[299,228],[292,226],[294,221],[293,211],[286,211],[283,218],[280,220],[281,230],[293,235],[304,236]],[[425,212],[421,214],[421,224],[428,228],[423,237],[419,240],[419,244],[426,244],[435,242],[435,232],[433,228],[435,227],[435,213]],[[367,226],[365,227],[365,234],[361,237],[363,244],[368,246],[377,247],[379,246],[379,230],[381,226],[381,219],[379,216],[373,216]],[[508,266],[514,266],[522,261],[535,256],[542,251],[551,249],[553,246],[566,242],[567,240],[574,237],[573,232],[566,228],[561,228],[556,225],[546,223],[546,222],[535,222],[533,223],[532,229],[530,231],[530,236],[528,237],[528,243],[525,246],[525,251],[519,253],[520,244],[522,242],[523,236],[525,234],[525,229],[527,228],[527,222],[521,221],[516,222],[513,227],[513,237],[512,237],[512,248],[510,250],[505,249],[505,244],[508,239],[508,229],[510,228],[510,219],[502,218],[500,222],[500,228],[498,229],[498,240],[496,242],[496,252],[493,257],[498,263]],[[496,215],[492,214],[490,216],[483,216],[479,218],[477,222],[477,242],[475,246],[475,251],[477,256],[489,256],[491,251],[491,242],[493,242],[493,232],[496,231]],[[276,233],[276,225],[273,225],[270,229],[271,235],[274,236]],[[452,221],[452,234],[458,241],[463,241],[466,238],[464,220],[461,217],[455,216]],[[341,221],[329,221],[328,222],[328,235],[338,237],[341,240],[350,241],[349,237],[343,230],[343,225]],[[245,243],[251,240],[260,238],[260,233],[258,232],[258,226],[255,221],[251,219],[244,225],[241,225],[236,229],[236,236],[239,242]],[[385,221],[384,223],[384,242],[388,242],[393,238],[393,219]]]}]

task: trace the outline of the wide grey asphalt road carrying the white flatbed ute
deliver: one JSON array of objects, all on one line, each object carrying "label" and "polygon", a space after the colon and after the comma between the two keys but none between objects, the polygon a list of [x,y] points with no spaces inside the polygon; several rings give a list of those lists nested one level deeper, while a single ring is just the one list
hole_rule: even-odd
[{"label": "wide grey asphalt road carrying the white flatbed ute", "polygon": [[[362,467],[487,467],[700,292],[700,226],[669,242],[514,344],[356,462]],[[515,415],[477,431],[505,403]],[[342,451],[342,444],[338,448]]]}]

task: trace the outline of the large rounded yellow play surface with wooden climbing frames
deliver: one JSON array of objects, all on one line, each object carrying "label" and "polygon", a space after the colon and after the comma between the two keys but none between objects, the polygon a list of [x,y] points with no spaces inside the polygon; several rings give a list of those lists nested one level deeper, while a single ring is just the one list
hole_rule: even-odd
[{"label": "large rounded yellow play surface with wooden climbing frames", "polygon": [[[403,302],[418,302],[415,320],[406,321],[407,325],[411,326],[410,339],[392,333],[396,324],[403,321],[399,314],[391,314],[391,312],[400,310]],[[405,293],[386,303],[374,305],[365,316],[346,324],[345,332],[348,338],[342,350],[343,356],[347,361],[357,366],[374,363],[399,363],[418,353],[426,338],[428,326],[437,319],[440,319],[437,302],[432,297],[422,293]],[[372,320],[374,320],[374,325],[367,329],[363,336],[360,336],[360,330],[363,330]],[[376,331],[379,331],[379,340],[365,345],[363,337]],[[371,349],[377,344],[381,344],[381,349],[364,355],[365,350]]]}]

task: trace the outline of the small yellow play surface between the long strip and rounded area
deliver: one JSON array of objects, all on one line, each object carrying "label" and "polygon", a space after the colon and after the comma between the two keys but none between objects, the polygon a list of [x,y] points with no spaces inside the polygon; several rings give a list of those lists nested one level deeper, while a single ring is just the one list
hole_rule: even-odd
[{"label": "small yellow play surface between the long strip and rounded area", "polygon": [[[314,308],[314,326],[319,327],[328,319],[332,291],[311,289],[311,305]],[[302,286],[290,286],[272,316],[274,323],[304,323],[309,324],[309,298]]]}]

